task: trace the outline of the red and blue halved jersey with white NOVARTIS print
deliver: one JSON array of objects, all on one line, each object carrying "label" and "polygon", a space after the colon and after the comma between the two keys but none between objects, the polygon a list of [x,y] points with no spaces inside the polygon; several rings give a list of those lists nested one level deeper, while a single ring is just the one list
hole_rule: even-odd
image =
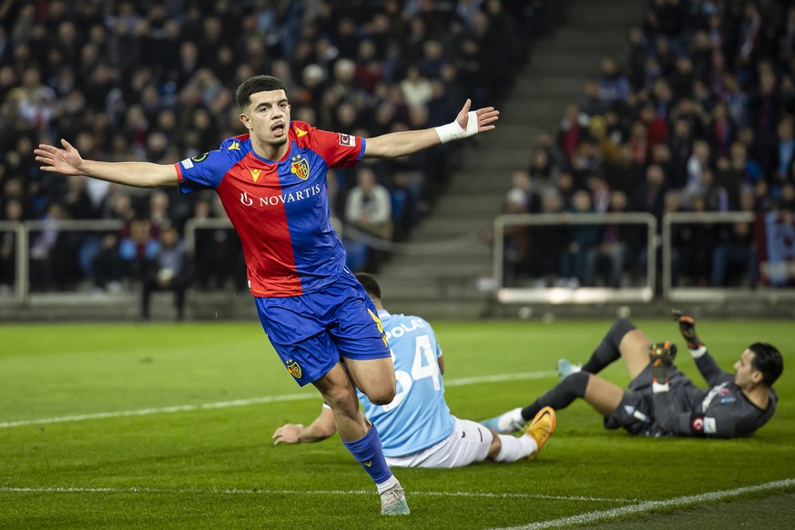
[{"label": "red and blue halved jersey with white NOVARTIS print", "polygon": [[243,245],[251,294],[296,296],[339,278],[345,250],[331,228],[326,174],[352,168],[365,140],[290,122],[290,149],[261,158],[249,135],[178,164],[179,189],[215,189]]}]

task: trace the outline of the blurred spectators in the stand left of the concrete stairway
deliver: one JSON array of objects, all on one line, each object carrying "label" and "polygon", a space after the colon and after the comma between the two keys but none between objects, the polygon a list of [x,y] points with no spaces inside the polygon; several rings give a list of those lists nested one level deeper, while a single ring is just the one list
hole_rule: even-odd
[{"label": "blurred spectators in the stand left of the concrete stairway", "polygon": [[[288,86],[292,116],[368,137],[449,120],[505,97],[534,27],[557,0],[53,0],[0,2],[0,215],[5,220],[120,219],[92,236],[56,223],[31,241],[35,290],[98,291],[145,280],[159,234],[225,215],[213,194],[180,198],[87,178],[53,178],[32,157],[74,138],[86,158],[176,163],[244,131],[234,90],[257,74]],[[367,234],[403,240],[433,209],[454,149],[330,175],[334,216],[357,270],[377,267]],[[0,284],[14,279],[13,234],[0,241]],[[231,230],[201,230],[201,288],[245,286]]]}]

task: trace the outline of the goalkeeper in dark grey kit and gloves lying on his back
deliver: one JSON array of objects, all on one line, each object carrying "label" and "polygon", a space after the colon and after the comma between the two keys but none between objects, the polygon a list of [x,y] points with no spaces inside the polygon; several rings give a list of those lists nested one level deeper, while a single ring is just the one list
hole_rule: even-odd
[{"label": "goalkeeper in dark grey kit and gloves lying on his back", "polygon": [[[576,398],[585,399],[605,416],[605,427],[624,427],[630,434],[748,436],[768,423],[778,394],[773,382],[784,368],[781,353],[764,342],[754,342],[734,363],[735,373],[724,372],[696,334],[692,317],[673,312],[698,371],[710,388],[697,388],[673,365],[676,346],[652,344],[631,322],[619,319],[579,367],[558,362],[561,382],[524,409],[514,409],[482,422],[497,433],[522,428],[543,407],[566,408]],[[629,392],[596,373],[622,358],[632,381]]]}]

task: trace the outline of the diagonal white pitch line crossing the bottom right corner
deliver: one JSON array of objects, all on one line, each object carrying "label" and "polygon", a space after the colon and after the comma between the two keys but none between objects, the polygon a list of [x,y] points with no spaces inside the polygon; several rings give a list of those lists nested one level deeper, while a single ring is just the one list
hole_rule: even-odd
[{"label": "diagonal white pitch line crossing the bottom right corner", "polygon": [[795,478],[786,478],[765,484],[744,486],[731,490],[675,497],[673,499],[668,499],[667,501],[644,501],[637,505],[620,506],[618,508],[610,508],[609,510],[587,512],[586,514],[572,515],[570,517],[561,517],[559,519],[552,519],[550,521],[541,521],[538,523],[531,523],[529,525],[511,526],[496,530],[541,530],[543,528],[557,528],[564,525],[588,525],[603,519],[611,519],[613,517],[617,517],[618,515],[641,514],[656,508],[666,508],[671,506],[684,507],[698,503],[719,501],[728,497],[736,497],[741,494],[778,490],[792,486],[795,486]]}]

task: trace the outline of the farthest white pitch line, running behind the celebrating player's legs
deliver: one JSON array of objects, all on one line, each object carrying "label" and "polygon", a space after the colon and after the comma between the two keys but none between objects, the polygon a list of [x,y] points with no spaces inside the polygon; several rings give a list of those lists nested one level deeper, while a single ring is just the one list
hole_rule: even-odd
[{"label": "farthest white pitch line, running behind the celebrating player's legs", "polygon": [[[453,379],[450,381],[445,381],[444,386],[464,386],[468,384],[478,384],[483,382],[505,382],[505,381],[521,381],[528,379],[543,379],[545,377],[553,377],[556,375],[557,372],[504,373],[499,375],[484,375],[480,377],[464,377],[461,379]],[[0,423],[0,429],[8,429],[10,427],[25,427],[26,425],[46,425],[48,423],[84,422],[87,420],[103,420],[106,418],[149,416],[151,414],[189,413],[192,411],[204,411],[210,409],[245,407],[249,405],[259,405],[262,403],[296,402],[296,401],[317,400],[317,399],[319,399],[317,393],[310,393],[310,392],[292,393],[292,394],[279,395],[279,396],[263,396],[259,398],[251,398],[244,400],[232,400],[228,402],[199,403],[192,405],[173,405],[169,407],[153,407],[148,409],[139,409],[137,411],[117,411],[111,413],[76,414],[72,416],[57,416],[55,418],[41,418],[37,420],[20,420],[18,422]]]}]

